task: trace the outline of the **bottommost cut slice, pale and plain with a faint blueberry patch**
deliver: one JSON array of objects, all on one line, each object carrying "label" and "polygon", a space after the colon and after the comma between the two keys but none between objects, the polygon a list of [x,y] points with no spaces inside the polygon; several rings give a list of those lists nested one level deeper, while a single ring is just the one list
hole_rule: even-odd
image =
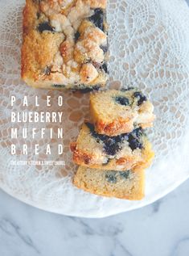
[{"label": "bottommost cut slice, pale and plain with a faint blueberry patch", "polygon": [[73,184],[96,195],[140,200],[144,197],[145,171],[100,170],[80,166]]}]

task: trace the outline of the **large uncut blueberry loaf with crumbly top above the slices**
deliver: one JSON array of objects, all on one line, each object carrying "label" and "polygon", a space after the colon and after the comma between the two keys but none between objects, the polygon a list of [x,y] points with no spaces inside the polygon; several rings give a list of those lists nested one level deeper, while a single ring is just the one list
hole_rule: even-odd
[{"label": "large uncut blueberry loaf with crumbly top above the slices", "polygon": [[107,80],[106,0],[27,0],[22,78],[40,88],[92,90]]}]

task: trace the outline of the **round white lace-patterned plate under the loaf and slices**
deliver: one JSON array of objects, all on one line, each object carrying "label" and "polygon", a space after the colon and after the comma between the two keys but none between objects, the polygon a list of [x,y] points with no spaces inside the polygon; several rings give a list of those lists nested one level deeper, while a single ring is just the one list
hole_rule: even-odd
[{"label": "round white lace-patterned plate under the loaf and slices", "polygon": [[[70,216],[101,217],[150,204],[179,186],[189,176],[189,8],[182,0],[109,0],[110,87],[140,87],[154,102],[157,120],[150,133],[156,158],[146,171],[146,197],[140,202],[90,195],[72,186],[76,166],[72,164],[69,142],[88,116],[88,94],[35,90],[20,79],[23,0],[0,2],[0,187],[10,195],[51,212]],[[10,95],[18,99],[10,107]],[[53,104],[47,109],[46,95]],[[64,95],[64,107],[56,105]],[[10,111],[22,111],[23,95],[30,99],[26,111],[64,111],[64,155],[55,153],[56,139],[10,139]],[[34,106],[35,95],[41,107]],[[20,124],[16,124],[19,128]],[[25,125],[28,128],[36,124]],[[15,127],[15,126],[14,126]],[[23,125],[22,125],[23,127]],[[38,128],[43,128],[39,124]],[[57,128],[57,124],[47,128]],[[20,130],[21,131],[21,130]],[[51,142],[52,154],[44,154]],[[17,148],[39,143],[39,156],[10,155]],[[11,160],[64,160],[66,166],[11,166]]]}]

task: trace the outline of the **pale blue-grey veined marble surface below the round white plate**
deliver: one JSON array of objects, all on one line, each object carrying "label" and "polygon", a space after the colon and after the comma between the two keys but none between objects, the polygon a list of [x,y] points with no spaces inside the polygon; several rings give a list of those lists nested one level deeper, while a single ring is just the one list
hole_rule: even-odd
[{"label": "pale blue-grey veined marble surface below the round white plate", "polygon": [[60,216],[0,191],[1,256],[187,256],[189,180],[154,204],[104,219]]}]

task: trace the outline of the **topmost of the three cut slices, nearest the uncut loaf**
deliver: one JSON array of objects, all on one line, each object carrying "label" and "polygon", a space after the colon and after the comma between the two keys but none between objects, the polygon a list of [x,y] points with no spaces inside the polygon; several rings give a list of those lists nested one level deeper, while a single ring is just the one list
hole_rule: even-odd
[{"label": "topmost of the three cut slices, nearest the uncut loaf", "polygon": [[140,90],[108,90],[90,95],[90,114],[95,130],[117,136],[154,121],[154,107]]}]

